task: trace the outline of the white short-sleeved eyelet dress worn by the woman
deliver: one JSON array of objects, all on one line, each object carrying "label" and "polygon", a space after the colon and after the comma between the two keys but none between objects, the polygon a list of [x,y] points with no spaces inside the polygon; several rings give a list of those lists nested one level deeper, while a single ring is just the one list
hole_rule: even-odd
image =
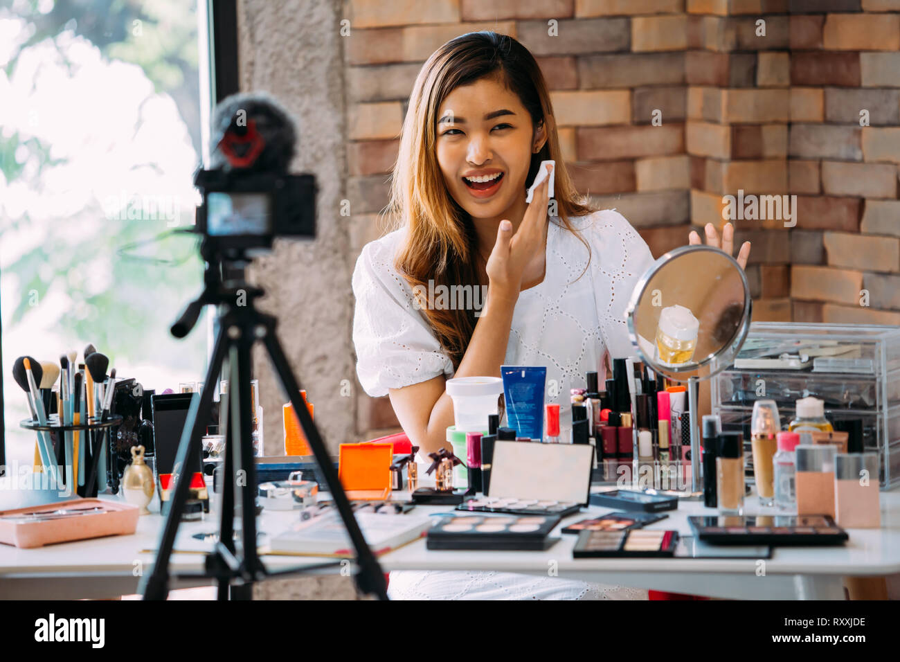
[{"label": "white short-sleeved eyelet dress worn by the woman", "polygon": [[[634,354],[625,313],[635,283],[653,264],[644,240],[614,210],[572,218],[590,246],[550,219],[544,281],[518,295],[504,365],[545,366],[546,403],[560,404],[563,439],[568,435],[572,388],[585,373],[604,377],[605,352]],[[404,229],[366,244],[353,273],[356,311],[353,341],[356,372],[373,397],[444,374],[450,358],[428,327],[410,286],[393,267]],[[580,274],[584,272],[583,275]],[[601,381],[602,384],[602,381]],[[591,585],[556,577],[488,572],[392,572],[394,599],[632,599],[645,591]]]}]

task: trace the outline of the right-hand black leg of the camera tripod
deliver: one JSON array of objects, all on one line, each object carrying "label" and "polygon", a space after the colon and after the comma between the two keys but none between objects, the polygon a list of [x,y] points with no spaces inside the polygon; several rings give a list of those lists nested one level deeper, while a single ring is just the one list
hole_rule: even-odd
[{"label": "right-hand black leg of the camera tripod", "polygon": [[319,429],[312,421],[310,413],[306,409],[306,404],[302,401],[300,384],[297,382],[296,377],[293,376],[287,357],[284,356],[281,343],[275,337],[275,318],[268,317],[266,322],[266,336],[263,341],[266,343],[269,358],[272,359],[272,366],[275,368],[275,373],[287,391],[288,398],[293,405],[293,411],[300,420],[303,434],[306,435],[306,440],[310,443],[313,455],[315,455],[322,471],[322,476],[324,476],[325,482],[329,485],[331,497],[338,507],[341,520],[344,521],[344,525],[347,527],[347,535],[350,537],[354,549],[356,549],[356,563],[359,565],[356,585],[359,586],[360,591],[364,594],[375,594],[379,599],[387,600],[387,585],[384,582],[382,568],[365,542],[363,532],[359,530],[353,511],[350,509],[347,494],[345,494],[344,487],[338,480],[338,472],[331,465],[328,449],[325,448],[325,443],[319,435]]}]

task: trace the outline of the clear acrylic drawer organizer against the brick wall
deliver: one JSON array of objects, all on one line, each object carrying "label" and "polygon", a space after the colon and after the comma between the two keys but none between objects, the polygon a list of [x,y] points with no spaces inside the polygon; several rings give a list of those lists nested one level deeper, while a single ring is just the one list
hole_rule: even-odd
[{"label": "clear acrylic drawer organizer against the brick wall", "polygon": [[832,424],[862,422],[863,450],[878,453],[881,488],[900,485],[900,328],[752,322],[734,365],[713,379],[711,395],[723,431],[743,431],[746,458],[756,400],[775,400],[787,429],[799,398],[820,398]]}]

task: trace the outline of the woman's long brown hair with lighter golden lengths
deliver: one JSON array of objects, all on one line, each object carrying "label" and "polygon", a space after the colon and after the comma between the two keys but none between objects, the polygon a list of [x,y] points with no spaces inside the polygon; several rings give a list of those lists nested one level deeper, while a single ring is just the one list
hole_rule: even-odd
[{"label": "woman's long brown hair with lighter golden lengths", "polygon": [[[569,218],[594,211],[587,196],[578,195],[563,164],[563,152],[553,122],[553,107],[541,69],[518,41],[497,32],[469,32],[447,41],[419,71],[403,121],[400,150],[392,174],[388,214],[393,226],[405,227],[406,240],[397,251],[394,267],[413,291],[433,280],[435,286],[478,286],[477,236],[472,217],[446,188],[437,163],[437,113],[456,87],[483,77],[498,77],[518,95],[534,126],[544,122],[547,140],[532,154],[527,183],[534,181],[541,161],[556,162],[554,199],[556,219],[579,236]],[[524,193],[524,191],[523,191]],[[590,254],[590,247],[589,247]],[[423,306],[422,312],[454,369],[463,360],[475,329],[475,312]]]}]

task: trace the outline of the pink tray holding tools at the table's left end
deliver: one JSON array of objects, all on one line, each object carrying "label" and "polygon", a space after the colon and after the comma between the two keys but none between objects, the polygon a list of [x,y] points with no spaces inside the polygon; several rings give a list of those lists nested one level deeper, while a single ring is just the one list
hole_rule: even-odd
[{"label": "pink tray holding tools at the table's left end", "polygon": [[103,507],[104,512],[92,512],[49,521],[17,522],[0,519],[0,542],[23,548],[42,547],[55,542],[130,534],[138,528],[140,515],[138,506],[130,503],[103,501],[102,499],[73,499],[58,503],[32,505],[28,508],[0,511],[0,516],[53,512],[60,509],[93,508],[94,506]]}]

